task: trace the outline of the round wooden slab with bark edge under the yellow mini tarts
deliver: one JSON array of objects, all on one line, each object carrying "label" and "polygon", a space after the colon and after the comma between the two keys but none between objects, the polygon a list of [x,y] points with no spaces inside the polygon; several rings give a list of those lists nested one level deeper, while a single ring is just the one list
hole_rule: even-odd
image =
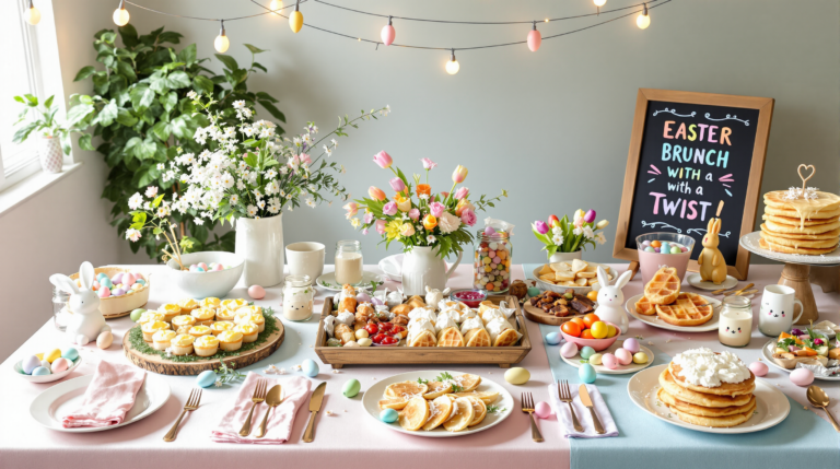
[{"label": "round wooden slab with bark edge under the yellow mini tarts", "polygon": [[[277,325],[277,330],[270,332],[267,336],[267,340],[258,347],[242,352],[238,355],[228,355],[223,357],[210,356],[192,362],[174,362],[160,355],[141,353],[131,345],[130,339],[131,331],[139,328],[139,325],[127,330],[122,336],[122,349],[126,351],[126,356],[131,361],[131,363],[143,370],[148,370],[161,375],[197,375],[208,370],[212,371],[218,368],[221,362],[226,364],[231,364],[233,362],[236,364],[236,370],[240,370],[259,362],[260,360],[267,359],[270,354],[275,353],[278,348],[280,348],[281,343],[283,343],[283,339],[285,337],[285,329],[283,328],[283,324],[280,321],[280,318],[275,317],[273,319]],[[268,318],[266,318],[266,320],[268,321]],[[262,333],[260,332],[260,336],[261,335]]]}]

